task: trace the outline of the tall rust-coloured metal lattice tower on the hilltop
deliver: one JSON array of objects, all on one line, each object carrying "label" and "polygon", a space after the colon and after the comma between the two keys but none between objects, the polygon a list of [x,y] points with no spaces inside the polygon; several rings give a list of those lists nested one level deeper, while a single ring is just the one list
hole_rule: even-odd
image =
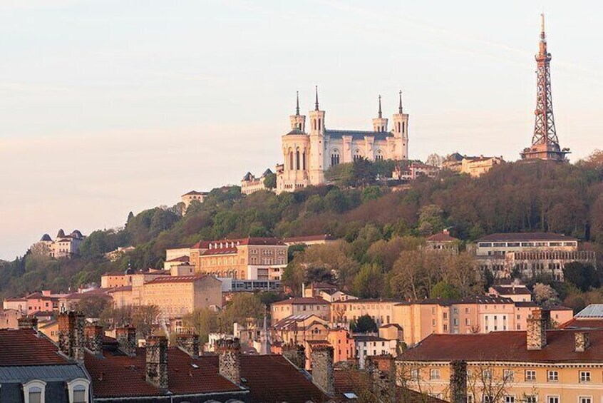
[{"label": "tall rust-coloured metal lattice tower on the hilltop", "polygon": [[551,54],[547,52],[545,15],[541,14],[540,51],[536,55],[536,109],[532,146],[521,153],[523,159],[565,160],[569,149],[561,150],[555,131],[555,117],[552,110]]}]

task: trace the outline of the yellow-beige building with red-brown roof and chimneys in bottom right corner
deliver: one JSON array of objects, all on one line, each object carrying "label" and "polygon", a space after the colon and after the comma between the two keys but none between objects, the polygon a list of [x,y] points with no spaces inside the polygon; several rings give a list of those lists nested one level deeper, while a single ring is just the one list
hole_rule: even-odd
[{"label": "yellow-beige building with red-brown roof and chimneys in bottom right corner", "polygon": [[396,359],[398,382],[448,400],[464,392],[467,402],[601,402],[603,330],[546,328],[535,311],[520,332],[431,335]]}]

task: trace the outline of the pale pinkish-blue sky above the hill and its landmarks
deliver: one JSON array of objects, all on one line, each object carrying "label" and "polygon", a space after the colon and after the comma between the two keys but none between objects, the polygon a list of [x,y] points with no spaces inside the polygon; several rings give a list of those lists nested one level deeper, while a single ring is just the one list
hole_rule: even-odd
[{"label": "pale pinkish-blue sky above the hill and its landmarks", "polygon": [[557,134],[603,148],[601,1],[0,0],[0,259],[280,163],[295,91],[409,154],[529,146],[540,13]]}]

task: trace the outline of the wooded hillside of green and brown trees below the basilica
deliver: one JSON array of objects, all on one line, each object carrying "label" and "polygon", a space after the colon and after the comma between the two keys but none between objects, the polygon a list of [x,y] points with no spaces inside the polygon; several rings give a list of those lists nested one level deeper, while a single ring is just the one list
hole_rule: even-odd
[{"label": "wooded hillside of green and brown trees below the basilica", "polygon": [[[404,250],[416,249],[421,236],[445,227],[462,240],[544,230],[573,235],[597,251],[603,245],[603,169],[596,158],[576,165],[509,163],[478,179],[444,172],[398,192],[377,183],[361,189],[307,188],[278,196],[244,196],[238,187],[218,188],[185,215],[181,207],[130,213],[123,229],[91,233],[78,258],[50,260],[28,252],[13,262],[1,262],[1,296],[42,288],[65,291],[98,282],[104,272],[125,270],[128,262],[137,269],[160,267],[166,248],[200,239],[329,233],[343,240],[337,248],[349,272],[339,280],[348,287],[370,278],[370,270],[361,272],[367,265],[385,277],[391,275],[395,258],[377,256],[375,250],[389,248],[397,258]],[[103,257],[125,245],[136,248],[116,262]],[[294,281],[292,270],[288,276]],[[395,291],[384,287],[379,294],[385,293]]]}]

